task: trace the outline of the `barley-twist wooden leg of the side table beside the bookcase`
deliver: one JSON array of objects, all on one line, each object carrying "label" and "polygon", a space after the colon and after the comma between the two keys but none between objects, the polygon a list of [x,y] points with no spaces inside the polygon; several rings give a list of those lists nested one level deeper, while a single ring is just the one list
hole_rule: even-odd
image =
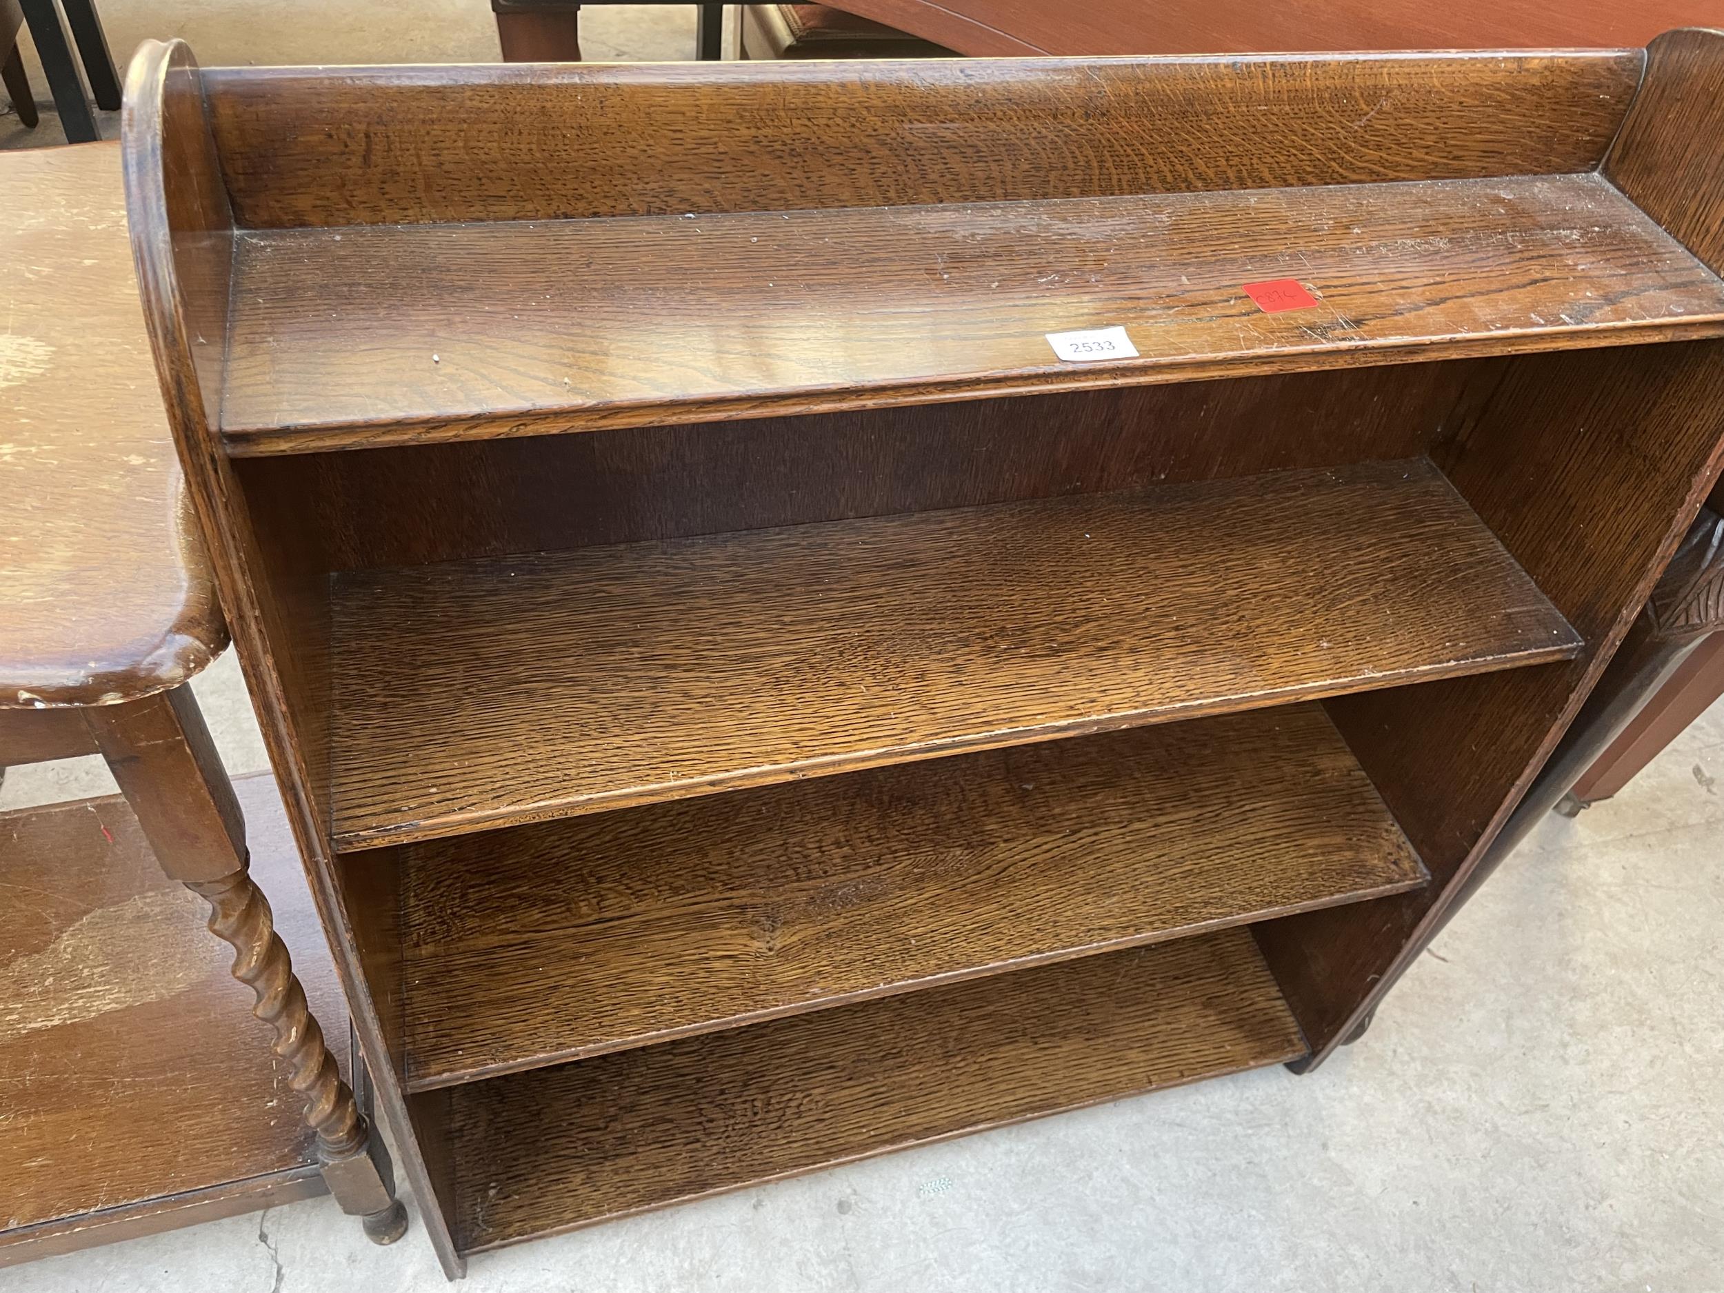
[{"label": "barley-twist wooden leg of the side table beside the bookcase", "polygon": [[162,871],[209,902],[210,933],[233,948],[233,976],[257,996],[252,1014],[276,1031],[274,1050],[293,1065],[329,1193],[343,1212],[364,1217],[372,1241],[393,1243],[407,1229],[407,1209],[395,1196],[388,1150],[341,1081],[269,902],[247,874],[245,819],[191,690],[95,707],[84,722]]}]

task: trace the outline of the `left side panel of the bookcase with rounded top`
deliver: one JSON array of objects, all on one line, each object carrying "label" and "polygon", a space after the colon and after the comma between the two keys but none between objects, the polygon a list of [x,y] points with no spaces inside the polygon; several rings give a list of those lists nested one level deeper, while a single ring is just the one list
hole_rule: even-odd
[{"label": "left side panel of the bookcase with rounded top", "polygon": [[[219,364],[226,353],[221,341],[231,286],[233,210],[197,60],[183,41],[145,41],[133,57],[121,153],[145,328],[188,493],[209,543],[288,821],[307,860],[312,898],[333,933],[336,974],[376,1081],[378,1110],[395,1133],[414,1191],[433,1198],[324,829],[328,693],[321,686],[328,634],[321,633],[321,614],[328,597],[321,572],[309,569],[315,545],[307,548],[310,534],[303,531],[269,529],[260,543],[257,517],[214,433]],[[443,1272],[459,1277],[464,1265],[445,1212],[426,1209],[421,1215]]]}]

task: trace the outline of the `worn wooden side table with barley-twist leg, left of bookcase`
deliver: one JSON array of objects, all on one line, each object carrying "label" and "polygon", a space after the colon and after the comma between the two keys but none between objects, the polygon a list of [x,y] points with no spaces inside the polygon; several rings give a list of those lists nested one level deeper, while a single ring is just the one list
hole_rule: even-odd
[{"label": "worn wooden side table with barley-twist leg, left of bookcase", "polygon": [[[119,147],[0,153],[0,767],[100,753],[131,810],[91,800],[0,826],[0,879],[38,895],[0,914],[0,1252],[298,1196],[307,1150],[341,1207],[388,1243],[407,1226],[388,1153],[250,874],[253,853],[274,864],[286,848],[272,786],[236,798],[191,696],[228,629],[152,398]],[[167,955],[186,940],[164,941],[162,924],[188,912],[162,896],[171,886],[140,878],[147,850],[209,903],[209,929],[269,1029],[233,984],[221,1009],[207,957]],[[245,1040],[255,1057],[238,1055]],[[136,1088],[91,1100],[114,1072]],[[272,1109],[281,1086],[300,1100]],[[303,1131],[284,1124],[295,1103]]]}]

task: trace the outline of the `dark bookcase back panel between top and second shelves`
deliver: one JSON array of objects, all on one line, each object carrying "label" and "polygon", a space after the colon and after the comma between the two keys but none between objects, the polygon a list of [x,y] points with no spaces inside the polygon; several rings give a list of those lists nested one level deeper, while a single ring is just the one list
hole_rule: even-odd
[{"label": "dark bookcase back panel between top and second shelves", "polygon": [[236,459],[329,569],[722,534],[1426,453],[1502,360]]}]

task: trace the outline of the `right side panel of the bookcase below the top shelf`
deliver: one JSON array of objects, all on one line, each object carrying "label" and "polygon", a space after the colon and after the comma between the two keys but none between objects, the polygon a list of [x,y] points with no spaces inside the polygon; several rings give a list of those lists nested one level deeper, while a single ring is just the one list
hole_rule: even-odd
[{"label": "right side panel of the bookcase below the top shelf", "polygon": [[1350,921],[1253,928],[1314,1060],[1419,955],[1598,681],[1717,479],[1721,407],[1719,343],[1522,357],[1448,448],[1450,479],[1586,646],[1512,678],[1327,702],[1431,886]]}]

